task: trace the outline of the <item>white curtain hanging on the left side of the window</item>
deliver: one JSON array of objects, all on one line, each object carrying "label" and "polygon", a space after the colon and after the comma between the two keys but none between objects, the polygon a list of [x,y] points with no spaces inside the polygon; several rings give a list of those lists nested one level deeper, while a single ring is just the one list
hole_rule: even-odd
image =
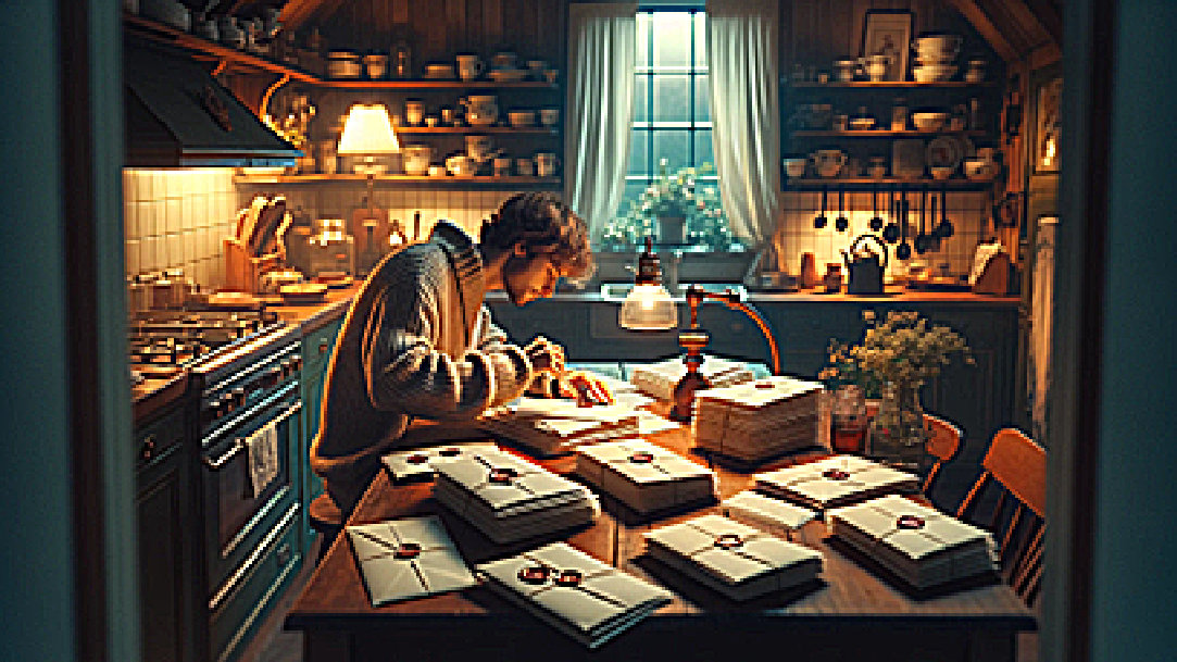
[{"label": "white curtain hanging on the left side of the window", "polygon": [[568,7],[568,98],[564,121],[564,200],[591,237],[625,193],[633,119],[636,2]]}]

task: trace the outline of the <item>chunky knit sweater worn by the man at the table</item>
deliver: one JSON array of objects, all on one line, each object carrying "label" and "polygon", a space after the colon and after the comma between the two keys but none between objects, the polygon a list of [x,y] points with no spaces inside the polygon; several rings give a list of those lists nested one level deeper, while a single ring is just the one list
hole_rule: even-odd
[{"label": "chunky knit sweater worn by the man at the table", "polygon": [[350,512],[410,424],[470,421],[519,397],[532,378],[483,305],[478,246],[439,221],[430,240],[390,254],[344,319],[327,368],[311,468]]}]

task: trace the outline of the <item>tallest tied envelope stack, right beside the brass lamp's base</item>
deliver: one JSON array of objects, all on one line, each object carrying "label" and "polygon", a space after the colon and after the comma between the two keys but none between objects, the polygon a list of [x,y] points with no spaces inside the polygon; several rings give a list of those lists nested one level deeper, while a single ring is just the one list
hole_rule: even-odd
[{"label": "tallest tied envelope stack, right beside the brass lamp's base", "polygon": [[812,446],[820,391],[818,382],[785,376],[698,391],[694,443],[751,462]]}]

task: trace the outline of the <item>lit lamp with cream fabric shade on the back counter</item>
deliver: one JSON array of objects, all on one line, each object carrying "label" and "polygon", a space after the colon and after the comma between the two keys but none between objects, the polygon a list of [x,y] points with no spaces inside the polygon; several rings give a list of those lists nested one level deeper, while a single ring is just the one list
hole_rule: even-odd
[{"label": "lit lamp with cream fabric shade on the back counter", "polygon": [[367,174],[366,208],[361,206],[353,212],[348,229],[358,244],[357,271],[361,273],[367,272],[384,257],[391,240],[387,214],[383,210],[377,210],[374,204],[374,178],[384,172],[384,166],[377,165],[375,157],[399,151],[400,144],[392,131],[388,110],[383,104],[371,106],[355,104],[347,111],[337,153],[364,157],[363,163],[355,164],[354,171]]}]

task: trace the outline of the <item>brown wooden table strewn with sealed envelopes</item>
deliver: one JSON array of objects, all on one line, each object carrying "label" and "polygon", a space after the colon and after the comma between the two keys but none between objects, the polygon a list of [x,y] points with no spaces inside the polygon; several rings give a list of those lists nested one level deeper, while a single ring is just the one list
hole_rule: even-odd
[{"label": "brown wooden table strewn with sealed envelopes", "polygon": [[[690,450],[687,430],[660,432],[651,441],[709,464],[726,498],[752,483],[752,474],[725,468]],[[524,454],[521,454],[524,455]],[[812,459],[802,454],[759,470]],[[570,474],[573,457],[539,461]],[[590,651],[539,618],[479,587],[463,593],[373,608],[346,536],[339,536],[286,617],[286,628],[305,634],[305,662],[366,660],[706,660],[734,655],[790,656],[794,660],[1012,661],[1016,634],[1036,620],[1012,590],[989,580],[982,585],[916,596],[900,589],[870,562],[825,536],[820,522],[806,536],[819,541],[823,581],[800,595],[773,595],[733,603],[679,578],[640,554],[641,532],[714,504],[643,522],[601,495],[600,519],[571,534],[521,545],[496,545],[431,496],[432,483],[393,485],[381,474],[368,488],[350,523],[435,514],[471,565],[566,539],[593,556],[677,595],[669,605],[629,631]]]}]

